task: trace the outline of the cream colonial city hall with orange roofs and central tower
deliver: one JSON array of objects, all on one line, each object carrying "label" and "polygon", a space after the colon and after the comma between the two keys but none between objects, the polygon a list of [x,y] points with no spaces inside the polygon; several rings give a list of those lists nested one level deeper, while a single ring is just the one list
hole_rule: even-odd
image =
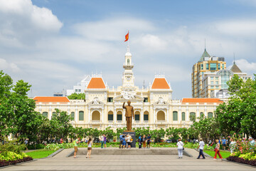
[{"label": "cream colonial city hall with orange roofs and central tower", "polygon": [[[215,108],[222,103],[219,98],[171,98],[171,85],[163,75],[156,75],[148,88],[134,83],[132,54],[127,48],[123,64],[122,86],[109,88],[101,75],[87,76],[77,92],[85,93],[85,100],[69,100],[67,97],[35,97],[36,111],[48,119],[55,108],[72,115],[73,126],[82,128],[116,130],[126,126],[122,104],[130,100],[134,106],[133,127],[183,128],[192,124],[191,118],[200,115],[213,117]],[[126,103],[127,104],[127,103]],[[191,117],[194,116],[194,117]]]}]

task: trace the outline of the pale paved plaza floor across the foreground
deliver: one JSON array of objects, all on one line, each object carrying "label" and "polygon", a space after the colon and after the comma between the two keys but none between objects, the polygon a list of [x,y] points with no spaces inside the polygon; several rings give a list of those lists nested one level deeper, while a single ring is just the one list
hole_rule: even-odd
[{"label": "pale paved plaza floor across the foreground", "polygon": [[198,152],[187,149],[193,157],[176,155],[95,155],[87,159],[85,155],[78,158],[66,157],[73,149],[63,150],[54,157],[33,162],[5,167],[2,170],[256,170],[256,167],[240,165],[235,162],[197,160]]}]

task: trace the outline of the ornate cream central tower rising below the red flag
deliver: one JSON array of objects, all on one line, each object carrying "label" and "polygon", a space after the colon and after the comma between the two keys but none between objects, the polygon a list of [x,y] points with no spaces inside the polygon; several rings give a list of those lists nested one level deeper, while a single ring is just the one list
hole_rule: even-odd
[{"label": "ornate cream central tower rising below the red flag", "polygon": [[132,63],[132,54],[129,52],[129,46],[127,46],[127,53],[125,53],[125,62],[123,65],[124,73],[122,76],[122,86],[123,87],[134,87],[134,74],[132,68],[134,64]]}]

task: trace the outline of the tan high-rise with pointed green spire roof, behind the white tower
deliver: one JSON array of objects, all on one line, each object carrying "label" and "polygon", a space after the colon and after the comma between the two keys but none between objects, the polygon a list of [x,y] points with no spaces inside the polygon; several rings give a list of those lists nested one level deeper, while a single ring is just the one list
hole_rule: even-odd
[{"label": "tan high-rise with pointed green spire roof, behind the white tower", "polygon": [[[191,74],[192,97],[193,98],[209,98],[210,94],[205,95],[203,92],[203,78],[205,73],[215,73],[226,68],[225,58],[210,56],[206,51],[203,52],[200,60],[193,65]],[[212,92],[218,87],[210,87],[209,92]]]}]

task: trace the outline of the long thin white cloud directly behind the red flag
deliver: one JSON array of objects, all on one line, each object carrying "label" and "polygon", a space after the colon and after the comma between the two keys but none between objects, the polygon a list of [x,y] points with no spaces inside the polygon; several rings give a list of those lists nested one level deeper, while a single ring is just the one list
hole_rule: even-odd
[{"label": "long thin white cloud directly behind the red flag", "polygon": [[154,24],[143,19],[119,18],[101,21],[85,22],[73,26],[76,33],[93,40],[124,41],[124,36],[129,30],[130,38],[135,38],[136,33],[153,31]]}]

